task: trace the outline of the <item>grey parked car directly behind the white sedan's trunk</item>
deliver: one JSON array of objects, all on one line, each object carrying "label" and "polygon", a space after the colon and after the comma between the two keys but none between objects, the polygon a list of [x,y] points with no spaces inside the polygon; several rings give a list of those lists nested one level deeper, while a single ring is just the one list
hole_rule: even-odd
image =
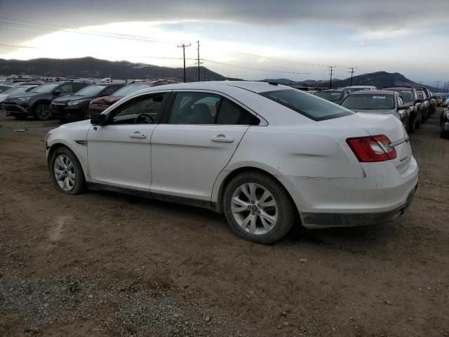
[{"label": "grey parked car directly behind the white sedan's trunk", "polygon": [[348,95],[341,105],[354,112],[391,114],[402,122],[406,131],[410,126],[410,105],[405,104],[396,91],[356,91]]}]

